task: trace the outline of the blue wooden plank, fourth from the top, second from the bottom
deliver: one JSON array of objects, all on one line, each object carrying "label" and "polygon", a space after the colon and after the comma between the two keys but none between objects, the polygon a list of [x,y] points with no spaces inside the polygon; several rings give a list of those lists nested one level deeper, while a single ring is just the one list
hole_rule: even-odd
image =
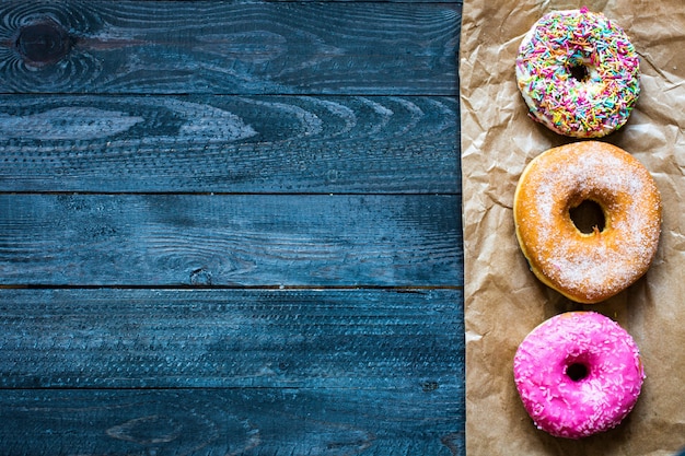
[{"label": "blue wooden plank, fourth from the top, second from the bottom", "polygon": [[1,388],[460,388],[461,290],[0,290]]}]

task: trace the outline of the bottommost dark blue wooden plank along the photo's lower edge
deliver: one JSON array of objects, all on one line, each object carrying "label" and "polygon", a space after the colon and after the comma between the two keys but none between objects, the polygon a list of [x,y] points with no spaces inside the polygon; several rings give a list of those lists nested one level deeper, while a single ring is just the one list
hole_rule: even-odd
[{"label": "bottommost dark blue wooden plank along the photo's lower edge", "polygon": [[0,390],[2,454],[464,453],[463,390]]}]

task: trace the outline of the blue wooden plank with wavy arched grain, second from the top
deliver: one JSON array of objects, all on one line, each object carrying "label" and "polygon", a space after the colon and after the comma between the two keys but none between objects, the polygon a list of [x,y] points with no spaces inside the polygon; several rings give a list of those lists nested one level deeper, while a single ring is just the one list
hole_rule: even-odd
[{"label": "blue wooden plank with wavy arched grain, second from the top", "polygon": [[0,96],[0,191],[461,192],[450,97]]}]

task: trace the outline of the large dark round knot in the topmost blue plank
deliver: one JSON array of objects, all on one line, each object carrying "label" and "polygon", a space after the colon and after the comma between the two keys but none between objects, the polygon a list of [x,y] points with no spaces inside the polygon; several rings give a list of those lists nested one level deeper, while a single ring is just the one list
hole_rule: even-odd
[{"label": "large dark round knot in the topmost blue plank", "polygon": [[44,20],[21,27],[15,45],[26,63],[44,67],[58,62],[69,54],[73,39],[60,24]]}]

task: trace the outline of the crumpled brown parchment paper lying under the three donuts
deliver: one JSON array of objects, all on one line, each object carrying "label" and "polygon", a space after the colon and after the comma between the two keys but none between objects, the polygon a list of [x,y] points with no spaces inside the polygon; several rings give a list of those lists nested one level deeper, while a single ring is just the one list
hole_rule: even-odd
[{"label": "crumpled brown parchment paper lying under the three donuts", "polygon": [[[570,302],[529,271],[511,209],[524,166],[544,150],[574,141],[527,117],[515,82],[518,47],[544,13],[582,5],[622,25],[640,55],[637,107],[624,128],[602,140],[650,169],[664,209],[659,252],[647,276],[595,305]],[[674,455],[685,447],[685,3],[466,0],[460,80],[467,455]],[[535,429],[512,373],[514,352],[529,331],[571,309],[617,320],[638,343],[647,374],[630,416],[580,441]]]}]

